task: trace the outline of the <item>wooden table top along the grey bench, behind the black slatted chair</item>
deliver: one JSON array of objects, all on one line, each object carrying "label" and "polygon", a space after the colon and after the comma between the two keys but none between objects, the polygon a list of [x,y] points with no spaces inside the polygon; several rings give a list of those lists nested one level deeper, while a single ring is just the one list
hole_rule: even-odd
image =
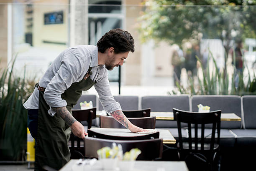
[{"label": "wooden table top along the grey bench, behind the black slatted chair", "polygon": [[[102,111],[96,111],[96,116],[100,117]],[[150,112],[150,116],[156,116],[156,120],[174,120],[173,112]],[[235,113],[221,113],[220,121],[241,121]]]}]

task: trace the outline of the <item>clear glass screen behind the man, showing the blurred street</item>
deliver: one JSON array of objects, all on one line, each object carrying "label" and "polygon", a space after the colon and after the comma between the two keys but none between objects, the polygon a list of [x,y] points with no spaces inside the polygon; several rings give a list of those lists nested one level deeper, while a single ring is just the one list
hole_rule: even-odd
[{"label": "clear glass screen behind the man, showing the blurred street", "polygon": [[[251,79],[255,73],[256,6],[47,2],[0,4],[1,68],[16,58],[16,75],[23,76],[26,68],[26,78],[39,80],[66,48],[96,45],[109,30],[122,28],[133,35],[136,50],[121,67],[121,95],[167,95],[177,90],[175,79],[188,86],[189,77],[194,81],[203,78],[196,56],[204,68],[209,59],[210,73],[215,70],[215,59],[220,73],[226,70],[232,81],[242,61],[234,60],[233,54],[240,51],[245,83],[248,73]],[[113,95],[118,94],[118,73],[118,68],[109,71]],[[92,89],[89,93],[96,92]]]}]

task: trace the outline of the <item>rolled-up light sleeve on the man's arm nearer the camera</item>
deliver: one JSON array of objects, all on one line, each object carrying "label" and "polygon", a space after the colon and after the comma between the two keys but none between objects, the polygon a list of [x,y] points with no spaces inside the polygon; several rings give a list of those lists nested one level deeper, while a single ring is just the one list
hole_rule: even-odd
[{"label": "rolled-up light sleeve on the man's arm nearer the camera", "polygon": [[[58,72],[51,79],[44,92],[44,99],[50,107],[67,106],[67,102],[61,98],[61,94],[77,81],[84,68],[85,60],[80,54],[73,54],[61,61]],[[55,113],[55,112],[54,112]],[[52,113],[52,114],[54,114]]]}]

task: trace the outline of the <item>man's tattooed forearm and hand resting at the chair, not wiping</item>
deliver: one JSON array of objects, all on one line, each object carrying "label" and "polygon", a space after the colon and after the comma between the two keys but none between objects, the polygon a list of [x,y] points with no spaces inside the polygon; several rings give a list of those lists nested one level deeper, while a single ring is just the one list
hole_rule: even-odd
[{"label": "man's tattooed forearm and hand resting at the chair, not wiping", "polygon": [[84,126],[78,122],[72,115],[69,113],[66,107],[51,107],[57,115],[59,115],[70,127],[75,136],[79,138],[84,138],[84,135],[87,133],[84,131]]}]

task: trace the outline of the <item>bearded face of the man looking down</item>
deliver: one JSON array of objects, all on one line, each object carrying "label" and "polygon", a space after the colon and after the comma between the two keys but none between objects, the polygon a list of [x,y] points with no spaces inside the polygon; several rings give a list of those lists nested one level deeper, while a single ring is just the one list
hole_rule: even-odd
[{"label": "bearded face of the man looking down", "polygon": [[123,65],[123,61],[127,58],[129,52],[115,54],[114,51],[108,55],[108,60],[105,63],[107,70],[113,70],[113,68],[119,65]]}]

